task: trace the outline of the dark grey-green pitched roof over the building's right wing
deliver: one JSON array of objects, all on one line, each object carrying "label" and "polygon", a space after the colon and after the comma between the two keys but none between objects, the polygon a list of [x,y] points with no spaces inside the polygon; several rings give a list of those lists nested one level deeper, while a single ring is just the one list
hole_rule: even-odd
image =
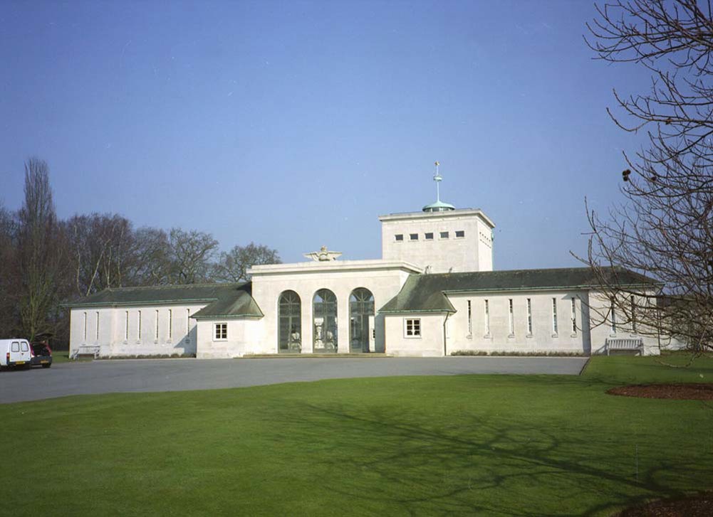
[{"label": "dark grey-green pitched roof over the building's right wing", "polygon": [[[656,286],[653,278],[623,268],[611,268],[620,285]],[[453,313],[456,310],[446,293],[473,291],[541,291],[596,288],[590,268],[516,269],[411,275],[399,291],[382,307],[381,313]]]}]

